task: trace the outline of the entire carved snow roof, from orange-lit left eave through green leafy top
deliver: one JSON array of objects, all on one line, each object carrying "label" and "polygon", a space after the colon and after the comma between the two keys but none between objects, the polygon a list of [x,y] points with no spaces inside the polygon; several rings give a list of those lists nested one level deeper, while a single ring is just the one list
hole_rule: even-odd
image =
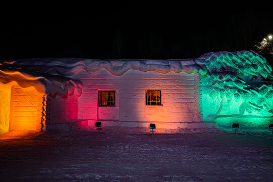
[{"label": "entire carved snow roof, from orange-lit left eave through green leafy top", "polygon": [[74,79],[79,70],[96,74],[106,69],[113,75],[122,75],[129,69],[155,71],[159,73],[186,72],[211,76],[216,72],[234,74],[260,74],[271,77],[271,67],[266,60],[253,51],[207,53],[197,59],[119,59],[95,60],[80,58],[33,58],[18,60],[0,60],[0,82],[7,84],[16,81],[26,87],[32,83],[44,85],[44,93],[51,96],[80,96],[83,84]]}]

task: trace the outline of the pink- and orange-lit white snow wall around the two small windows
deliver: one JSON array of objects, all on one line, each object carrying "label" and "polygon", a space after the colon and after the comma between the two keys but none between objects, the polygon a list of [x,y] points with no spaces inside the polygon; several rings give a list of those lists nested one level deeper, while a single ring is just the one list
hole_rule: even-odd
[{"label": "pink- and orange-lit white snow wall around the two small windows", "polygon": [[[76,73],[84,89],[78,119],[154,122],[200,122],[199,74],[128,70],[115,76],[105,69]],[[145,89],[160,89],[161,106],[145,105]],[[99,107],[99,90],[116,91],[116,107]]]}]

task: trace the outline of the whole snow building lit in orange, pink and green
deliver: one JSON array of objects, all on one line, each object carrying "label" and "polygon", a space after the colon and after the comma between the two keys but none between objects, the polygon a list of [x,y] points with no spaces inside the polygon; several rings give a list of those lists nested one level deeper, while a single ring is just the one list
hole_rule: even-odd
[{"label": "whole snow building lit in orange, pink and green", "polygon": [[273,116],[271,72],[252,51],[170,60],[2,60],[0,132],[98,121],[176,129],[241,120],[265,127]]}]

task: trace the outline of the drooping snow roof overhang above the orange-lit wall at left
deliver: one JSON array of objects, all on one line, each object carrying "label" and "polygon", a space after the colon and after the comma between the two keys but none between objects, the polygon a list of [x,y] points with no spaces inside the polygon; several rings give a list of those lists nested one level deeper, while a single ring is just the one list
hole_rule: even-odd
[{"label": "drooping snow roof overhang above the orange-lit wall at left", "polygon": [[13,82],[16,82],[21,87],[35,85],[38,92],[50,94],[52,97],[57,95],[62,98],[71,95],[81,96],[83,84],[80,80],[43,73],[43,67],[47,66],[44,64],[35,66],[35,64],[24,61],[21,63],[5,61],[0,63],[0,82],[4,84],[15,84]]}]

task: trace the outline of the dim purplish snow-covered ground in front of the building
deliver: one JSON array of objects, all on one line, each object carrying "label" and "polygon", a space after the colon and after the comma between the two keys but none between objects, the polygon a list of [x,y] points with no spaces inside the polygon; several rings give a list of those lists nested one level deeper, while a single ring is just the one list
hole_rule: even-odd
[{"label": "dim purplish snow-covered ground in front of the building", "polygon": [[217,130],[14,131],[0,135],[0,181],[273,181],[272,139]]}]

